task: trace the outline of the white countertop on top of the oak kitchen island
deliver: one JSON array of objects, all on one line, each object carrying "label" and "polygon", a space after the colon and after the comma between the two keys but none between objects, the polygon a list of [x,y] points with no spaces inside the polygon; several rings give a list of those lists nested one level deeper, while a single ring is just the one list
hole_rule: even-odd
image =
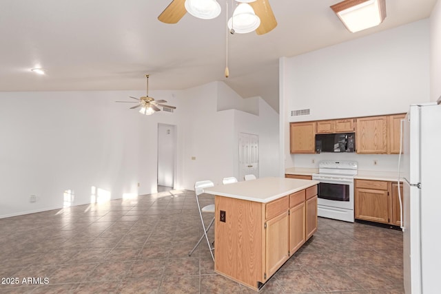
[{"label": "white countertop on top of the oak kitchen island", "polygon": [[204,189],[205,193],[267,203],[291,193],[317,185],[318,180],[294,178],[258,178]]}]

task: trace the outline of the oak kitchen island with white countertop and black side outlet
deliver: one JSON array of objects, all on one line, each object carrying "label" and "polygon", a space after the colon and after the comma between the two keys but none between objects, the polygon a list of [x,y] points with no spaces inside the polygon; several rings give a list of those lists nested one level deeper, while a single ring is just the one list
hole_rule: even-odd
[{"label": "oak kitchen island with white countertop and black side outlet", "polygon": [[317,230],[316,180],[259,178],[215,196],[214,271],[260,289]]}]

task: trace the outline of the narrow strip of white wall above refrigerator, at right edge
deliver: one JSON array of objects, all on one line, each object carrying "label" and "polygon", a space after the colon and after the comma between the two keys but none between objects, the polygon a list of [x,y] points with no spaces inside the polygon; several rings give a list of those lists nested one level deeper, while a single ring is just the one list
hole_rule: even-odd
[{"label": "narrow strip of white wall above refrigerator, at right edge", "polygon": [[441,97],[441,1],[435,4],[430,17],[431,69],[430,100]]}]

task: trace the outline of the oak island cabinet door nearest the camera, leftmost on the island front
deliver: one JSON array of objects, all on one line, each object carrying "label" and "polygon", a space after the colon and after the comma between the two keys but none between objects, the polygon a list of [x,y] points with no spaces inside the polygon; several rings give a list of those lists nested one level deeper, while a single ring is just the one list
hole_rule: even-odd
[{"label": "oak island cabinet door nearest the camera, leftmost on the island front", "polygon": [[265,279],[268,279],[289,258],[289,215],[285,213],[265,223]]}]

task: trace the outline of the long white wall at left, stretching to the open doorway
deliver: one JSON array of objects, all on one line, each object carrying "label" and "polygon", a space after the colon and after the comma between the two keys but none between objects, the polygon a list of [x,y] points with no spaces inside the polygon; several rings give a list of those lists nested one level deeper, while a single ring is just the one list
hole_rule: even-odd
[{"label": "long white wall at left, stretching to the open doorway", "polygon": [[[114,102],[127,95],[1,92],[0,217],[61,208],[65,190],[74,191],[72,205],[90,203],[92,187],[111,198],[150,193],[151,180],[142,175],[152,170],[141,162],[150,149],[145,136],[157,127]],[[30,203],[31,195],[37,202]]]}]

